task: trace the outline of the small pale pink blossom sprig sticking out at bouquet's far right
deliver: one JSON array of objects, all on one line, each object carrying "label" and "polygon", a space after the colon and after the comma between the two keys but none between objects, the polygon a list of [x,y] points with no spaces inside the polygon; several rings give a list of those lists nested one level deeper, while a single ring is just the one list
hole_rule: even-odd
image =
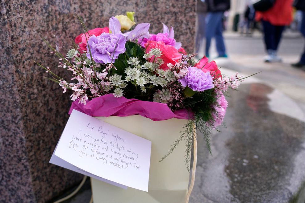
[{"label": "small pale pink blossom sprig sticking out at bouquet's far right", "polygon": [[243,76],[237,76],[238,72],[235,75],[232,75],[230,78],[223,76],[214,81],[215,91],[220,93],[222,91],[228,91],[229,88],[236,89],[243,80],[240,80]]}]

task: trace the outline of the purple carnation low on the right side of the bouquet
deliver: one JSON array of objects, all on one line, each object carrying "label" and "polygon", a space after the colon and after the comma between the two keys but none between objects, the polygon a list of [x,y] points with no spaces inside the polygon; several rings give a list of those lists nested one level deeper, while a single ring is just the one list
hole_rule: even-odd
[{"label": "purple carnation low on the right side of the bouquet", "polygon": [[204,73],[201,69],[188,67],[188,73],[179,82],[183,87],[190,87],[193,91],[205,91],[214,87],[210,72]]}]

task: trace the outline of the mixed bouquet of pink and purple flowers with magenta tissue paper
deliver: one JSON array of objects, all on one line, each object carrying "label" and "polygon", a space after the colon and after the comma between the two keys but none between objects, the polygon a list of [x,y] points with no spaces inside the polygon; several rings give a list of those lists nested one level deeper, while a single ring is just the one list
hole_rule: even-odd
[{"label": "mixed bouquet of pink and purple flowers with magenta tissue paper", "polygon": [[169,29],[163,24],[162,33],[152,34],[149,23],[134,26],[133,14],[111,17],[108,27],[93,30],[87,30],[77,16],[85,32],[75,38],[74,48],[66,56],[45,40],[60,58],[58,67],[70,71],[71,78],[64,79],[49,67],[39,65],[52,75],[50,79],[59,83],[64,93],[72,90],[74,108],[85,111],[88,105],[108,105],[106,116],[143,115],[145,108],[150,111],[161,108],[158,113],[164,116],[163,120],[188,119],[180,137],[161,160],[184,138],[189,168],[195,128],[203,134],[210,149],[211,130],[223,123],[228,107],[224,92],[236,89],[244,78],[237,73],[231,77],[221,75],[216,63],[209,63],[206,57],[196,63],[196,54],[186,53],[174,39],[173,27]]}]

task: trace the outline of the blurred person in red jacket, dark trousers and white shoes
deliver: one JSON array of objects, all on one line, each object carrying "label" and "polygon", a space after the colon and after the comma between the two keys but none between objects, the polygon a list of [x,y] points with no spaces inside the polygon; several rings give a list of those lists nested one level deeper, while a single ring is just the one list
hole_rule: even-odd
[{"label": "blurred person in red jacket, dark trousers and white shoes", "polygon": [[264,30],[264,42],[267,54],[265,62],[281,62],[282,59],[277,55],[278,45],[282,38],[285,26],[292,22],[292,3],[293,0],[275,0],[273,6],[264,11],[256,12],[255,18],[261,20]]}]

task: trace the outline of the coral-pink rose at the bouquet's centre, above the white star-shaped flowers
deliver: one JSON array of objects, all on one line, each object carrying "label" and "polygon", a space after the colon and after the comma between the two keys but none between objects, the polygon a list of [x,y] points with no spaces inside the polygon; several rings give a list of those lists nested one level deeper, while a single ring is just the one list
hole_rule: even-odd
[{"label": "coral-pink rose at the bouquet's centre, above the white star-shaped flowers", "polygon": [[[175,65],[181,58],[182,55],[179,54],[178,50],[171,46],[171,45],[165,45],[164,42],[156,42],[156,41],[148,41],[145,44],[146,50],[145,53],[147,54],[152,48],[158,48],[162,51],[162,55],[158,58],[163,59],[164,63],[161,65],[161,69],[167,70],[169,67],[167,66],[168,63],[171,63]],[[151,57],[148,59],[150,62],[153,62],[154,57]],[[156,60],[156,59],[155,59]]]}]

